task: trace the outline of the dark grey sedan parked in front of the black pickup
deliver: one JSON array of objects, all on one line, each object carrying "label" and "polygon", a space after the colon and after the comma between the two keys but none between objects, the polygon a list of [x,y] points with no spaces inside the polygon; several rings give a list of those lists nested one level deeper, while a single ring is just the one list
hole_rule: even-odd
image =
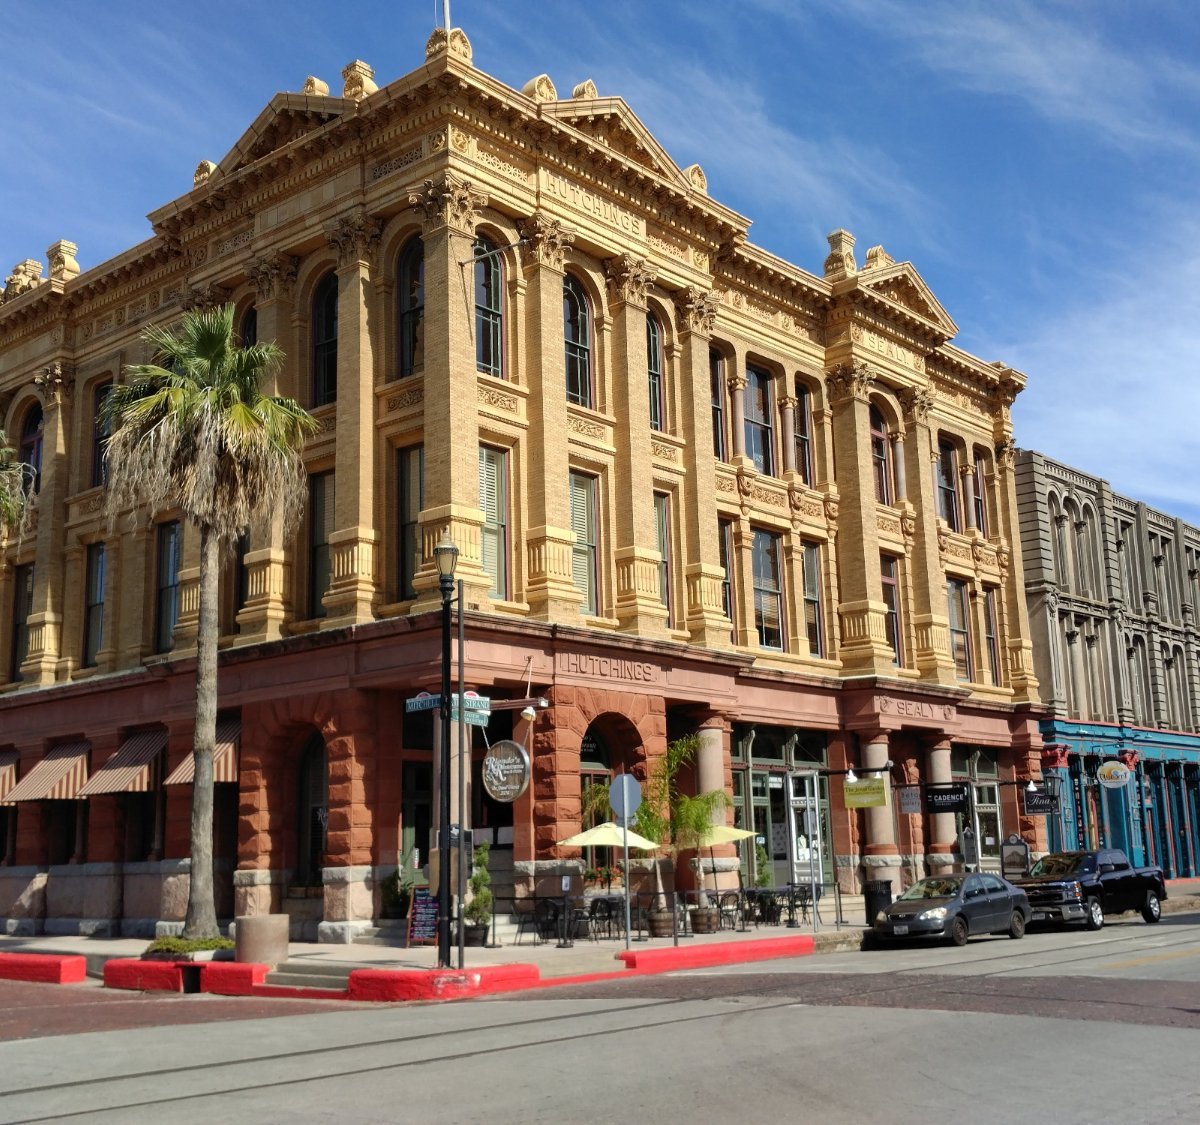
[{"label": "dark grey sedan parked in front of the black pickup", "polygon": [[875,916],[876,938],[949,938],[966,945],[973,933],[1024,938],[1030,900],[1000,876],[950,874],[922,879]]}]

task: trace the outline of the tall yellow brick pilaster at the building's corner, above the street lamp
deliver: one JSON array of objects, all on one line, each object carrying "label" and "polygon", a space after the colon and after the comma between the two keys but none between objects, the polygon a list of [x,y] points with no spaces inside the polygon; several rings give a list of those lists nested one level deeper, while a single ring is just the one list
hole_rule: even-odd
[{"label": "tall yellow brick pilaster at the building's corner, above the street lamp", "polygon": [[[475,223],[487,197],[466,180],[444,173],[408,197],[422,216],[425,245],[425,541],[414,585],[416,607],[440,604],[433,547],[443,531],[458,547],[456,578],[468,606],[490,604],[491,578],[480,546],[479,377],[475,371],[474,273],[470,259]],[[562,303],[562,302],[559,302]],[[562,351],[562,349],[559,349]]]}]

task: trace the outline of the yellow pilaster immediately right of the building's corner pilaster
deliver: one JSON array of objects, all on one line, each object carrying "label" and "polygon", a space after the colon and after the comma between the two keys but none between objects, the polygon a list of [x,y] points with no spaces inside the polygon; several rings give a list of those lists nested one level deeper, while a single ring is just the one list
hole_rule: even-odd
[{"label": "yellow pilaster immediately right of the building's corner pilaster", "polygon": [[570,458],[563,350],[563,259],[575,234],[538,212],[520,225],[527,283],[526,374],[529,449],[541,464],[529,474],[526,601],[530,616],[578,622],[583,595],[571,579]]}]

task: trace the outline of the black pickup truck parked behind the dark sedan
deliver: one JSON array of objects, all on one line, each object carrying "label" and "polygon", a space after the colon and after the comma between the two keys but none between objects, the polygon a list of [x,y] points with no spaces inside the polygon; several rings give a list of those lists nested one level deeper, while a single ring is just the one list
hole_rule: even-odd
[{"label": "black pickup truck parked behind the dark sedan", "polygon": [[1141,910],[1147,922],[1163,914],[1162,867],[1133,867],[1124,852],[1054,852],[1022,879],[1010,879],[1030,897],[1033,921],[1085,922],[1099,930],[1105,914]]}]

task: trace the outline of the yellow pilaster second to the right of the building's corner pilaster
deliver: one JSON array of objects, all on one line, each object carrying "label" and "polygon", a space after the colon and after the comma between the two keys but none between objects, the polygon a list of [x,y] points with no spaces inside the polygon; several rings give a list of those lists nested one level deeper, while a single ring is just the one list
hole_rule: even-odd
[{"label": "yellow pilaster second to the right of the building's corner pilaster", "polygon": [[613,494],[616,616],[623,632],[666,638],[667,607],[659,596],[661,555],[654,528],[654,488],[648,477],[650,395],[646,354],[646,288],[649,264],[632,254],[605,261],[612,311],[613,414],[617,459]]}]

